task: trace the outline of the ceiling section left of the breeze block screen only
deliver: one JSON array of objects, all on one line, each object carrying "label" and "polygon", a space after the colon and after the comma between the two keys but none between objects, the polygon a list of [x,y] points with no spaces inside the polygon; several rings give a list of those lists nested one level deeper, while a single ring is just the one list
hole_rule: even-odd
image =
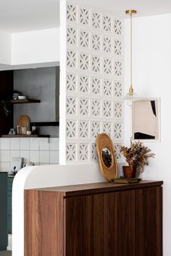
[{"label": "ceiling section left of the breeze block screen only", "polygon": [[17,33],[59,27],[59,0],[0,0],[0,30]]}]

